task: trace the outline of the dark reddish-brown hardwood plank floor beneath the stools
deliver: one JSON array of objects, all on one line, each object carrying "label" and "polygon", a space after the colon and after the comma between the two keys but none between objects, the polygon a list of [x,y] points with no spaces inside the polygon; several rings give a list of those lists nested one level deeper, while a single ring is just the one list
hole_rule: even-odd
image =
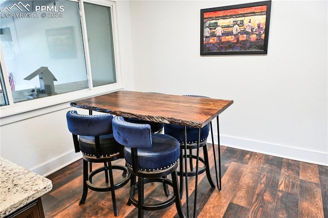
[{"label": "dark reddish-brown hardwood plank floor beneath the stools", "polygon": [[[214,179],[212,145],[208,147]],[[124,160],[116,163],[124,164]],[[199,176],[198,217],[328,218],[327,166],[221,146],[221,168],[221,191],[211,188],[205,173]],[[79,160],[48,176],[53,189],[42,197],[47,218],[114,217],[110,192],[89,190],[85,204],[78,205],[82,193],[82,170],[82,161]],[[115,191],[118,217],[137,217],[137,209],[126,205],[129,187],[128,183]],[[193,216],[194,187],[195,179],[189,178],[190,217]],[[147,200],[151,202],[165,196],[160,184],[148,184],[145,190]],[[186,194],[181,203],[186,213]],[[175,205],[172,205],[160,211],[145,211],[145,217],[178,215]]]}]

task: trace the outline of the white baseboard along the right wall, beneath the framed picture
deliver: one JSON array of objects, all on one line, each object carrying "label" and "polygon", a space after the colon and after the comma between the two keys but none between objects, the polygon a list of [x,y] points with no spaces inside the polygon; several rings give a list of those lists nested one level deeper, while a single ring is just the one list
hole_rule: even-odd
[{"label": "white baseboard along the right wall, beneath the framed picture", "polygon": [[[208,141],[210,143],[212,142],[211,139],[209,139]],[[217,135],[214,135],[214,143],[218,143]],[[314,150],[305,150],[295,147],[270,144],[265,142],[258,142],[222,135],[220,135],[220,144],[242,150],[259,152],[265,155],[272,155],[281,158],[288,158],[292,160],[328,166],[328,154]]]}]

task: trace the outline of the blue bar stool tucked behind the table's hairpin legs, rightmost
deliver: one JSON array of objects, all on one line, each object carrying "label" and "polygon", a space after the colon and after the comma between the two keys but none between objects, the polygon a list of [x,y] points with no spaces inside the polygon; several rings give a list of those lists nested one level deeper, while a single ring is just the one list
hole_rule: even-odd
[{"label": "blue bar stool tucked behind the table's hairpin legs, rightmost", "polygon": [[[199,96],[199,95],[188,95],[192,97],[203,97],[203,98],[208,98],[206,96]],[[203,164],[202,167],[198,168],[198,172],[194,170],[193,167],[193,160],[196,160],[197,157],[196,155],[193,154],[193,150],[197,148],[197,141],[198,141],[198,128],[186,127],[186,133],[187,133],[187,143],[185,143],[185,126],[183,125],[177,125],[177,124],[165,124],[164,125],[164,132],[167,135],[170,135],[177,139],[180,144],[180,167],[179,171],[177,172],[178,175],[180,176],[180,194],[182,195],[182,190],[183,190],[183,176],[187,177],[193,177],[197,175],[206,172],[207,179],[210,183],[210,185],[214,188],[215,185],[213,183],[211,173],[210,173],[210,166],[209,166],[209,155],[208,155],[208,150],[207,150],[207,138],[209,136],[209,124],[206,126],[200,128],[200,141],[199,141],[199,148],[202,147],[203,149],[203,157],[198,157],[198,161]],[[189,151],[189,154],[183,154],[185,150],[185,144],[187,151]],[[187,158],[189,160],[189,167],[190,170],[186,173],[185,170],[182,167],[183,160]]]}]

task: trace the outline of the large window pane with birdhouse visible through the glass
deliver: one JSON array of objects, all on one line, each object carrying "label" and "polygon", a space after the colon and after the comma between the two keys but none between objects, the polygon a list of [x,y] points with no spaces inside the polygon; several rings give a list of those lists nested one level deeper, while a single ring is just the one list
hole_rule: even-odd
[{"label": "large window pane with birdhouse visible through the glass", "polygon": [[[1,4],[1,9],[10,8],[17,2],[5,1]],[[1,17],[0,39],[6,69],[13,82],[13,101],[20,102],[87,89],[78,3],[20,2],[25,3],[32,7],[29,13],[36,13],[38,4],[46,7],[56,6],[57,9],[61,7],[64,10],[57,14],[45,13],[46,17],[42,17],[41,13],[38,17]],[[26,5],[27,8],[29,6]],[[17,8],[11,7],[10,10],[14,12]]]}]

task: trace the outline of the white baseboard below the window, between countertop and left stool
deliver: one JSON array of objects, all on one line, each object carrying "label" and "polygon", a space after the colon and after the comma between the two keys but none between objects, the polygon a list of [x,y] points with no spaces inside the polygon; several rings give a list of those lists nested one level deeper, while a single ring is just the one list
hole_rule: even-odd
[{"label": "white baseboard below the window, between countertop and left stool", "polygon": [[81,152],[75,153],[75,151],[70,151],[67,154],[64,154],[62,156],[59,156],[47,163],[44,163],[42,165],[39,165],[38,167],[35,167],[34,169],[31,169],[31,171],[37,173],[41,176],[48,176],[51,173],[68,166],[69,164],[79,160],[82,158]]}]

